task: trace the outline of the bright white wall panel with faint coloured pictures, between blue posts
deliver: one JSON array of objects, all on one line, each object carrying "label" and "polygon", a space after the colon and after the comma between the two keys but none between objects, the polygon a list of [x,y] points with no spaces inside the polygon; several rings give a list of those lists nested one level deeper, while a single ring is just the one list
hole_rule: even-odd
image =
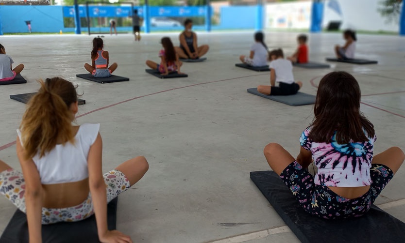
[{"label": "bright white wall panel with faint coloured pictures, between blue posts", "polygon": [[309,29],[312,1],[269,3],[266,5],[266,28]]}]

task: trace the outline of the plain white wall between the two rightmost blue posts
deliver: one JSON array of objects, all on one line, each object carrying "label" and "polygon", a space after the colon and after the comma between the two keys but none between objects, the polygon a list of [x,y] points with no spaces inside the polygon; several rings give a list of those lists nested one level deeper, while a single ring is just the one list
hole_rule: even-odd
[{"label": "plain white wall between the two rightmost blue posts", "polygon": [[381,0],[337,0],[341,16],[328,7],[330,1],[325,1],[323,27],[331,20],[340,20],[342,21],[340,29],[399,31],[397,22],[388,24],[386,18],[377,11],[381,6],[379,4]]}]

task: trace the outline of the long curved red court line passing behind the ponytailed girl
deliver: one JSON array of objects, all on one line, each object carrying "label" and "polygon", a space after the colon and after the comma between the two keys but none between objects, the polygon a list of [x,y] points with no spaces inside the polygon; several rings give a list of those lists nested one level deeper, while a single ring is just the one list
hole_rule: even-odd
[{"label": "long curved red court line passing behind the ponytailed girl", "polygon": [[[129,101],[133,101],[133,100],[136,100],[136,99],[139,99],[139,98],[143,98],[143,97],[146,97],[146,96],[151,96],[151,95],[158,94],[158,93],[164,93],[164,92],[168,92],[168,91],[180,90],[180,89],[184,89],[184,88],[188,88],[188,87],[194,87],[194,86],[203,85],[203,84],[211,84],[211,83],[217,83],[217,82],[222,82],[222,81],[229,81],[229,80],[234,80],[234,79],[239,79],[239,78],[254,77],[254,76],[265,76],[265,75],[269,75],[269,74],[257,74],[257,75],[249,75],[249,76],[241,76],[241,77],[226,78],[226,79],[221,79],[221,80],[216,80],[216,81],[209,81],[209,82],[203,82],[203,83],[198,83],[198,84],[191,84],[191,85],[186,85],[186,86],[182,86],[182,87],[172,88],[172,89],[169,89],[169,90],[158,91],[158,92],[154,92],[154,93],[150,93],[150,94],[145,94],[145,95],[141,95],[141,96],[136,96],[136,97],[131,98],[131,99],[128,99],[128,100],[124,100],[124,101],[120,101],[120,102],[114,103],[114,104],[112,104],[112,105],[102,106],[102,107],[100,107],[100,108],[91,110],[91,111],[89,111],[89,112],[86,112],[86,113],[84,113],[84,114],[81,114],[81,115],[79,115],[79,116],[76,116],[76,118],[80,118],[80,117],[83,117],[83,116],[85,116],[85,115],[91,114],[91,113],[96,112],[96,111],[100,111],[100,110],[103,110],[103,109],[107,109],[107,108],[110,108],[110,107],[113,107],[113,106],[118,106],[118,105],[120,105],[120,104],[122,104],[122,103],[126,103],[126,102],[129,102]],[[2,146],[0,147],[0,151],[5,150],[5,149],[7,149],[7,148],[13,146],[14,144],[16,144],[16,141],[11,142],[11,143],[4,144],[4,145],[2,145]]]}]

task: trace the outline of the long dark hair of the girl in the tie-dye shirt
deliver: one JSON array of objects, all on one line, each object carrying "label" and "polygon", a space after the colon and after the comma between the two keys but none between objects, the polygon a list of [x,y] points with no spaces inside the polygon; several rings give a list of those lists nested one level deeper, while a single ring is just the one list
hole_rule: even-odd
[{"label": "long dark hair of the girl in the tie-dye shirt", "polygon": [[337,143],[347,144],[374,137],[374,126],[360,112],[360,96],[354,76],[342,71],[325,75],[319,84],[309,138],[329,143],[336,132]]}]

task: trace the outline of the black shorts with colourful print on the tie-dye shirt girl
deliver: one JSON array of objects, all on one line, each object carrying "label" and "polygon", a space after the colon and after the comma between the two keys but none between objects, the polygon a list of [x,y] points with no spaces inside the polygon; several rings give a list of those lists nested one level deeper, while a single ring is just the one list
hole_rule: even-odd
[{"label": "black shorts with colourful print on the tie-dye shirt girl", "polygon": [[354,199],[340,197],[329,187],[316,185],[314,177],[296,161],[283,170],[280,178],[307,213],[325,219],[339,219],[359,217],[367,213],[393,175],[387,166],[371,164],[370,190]]}]

